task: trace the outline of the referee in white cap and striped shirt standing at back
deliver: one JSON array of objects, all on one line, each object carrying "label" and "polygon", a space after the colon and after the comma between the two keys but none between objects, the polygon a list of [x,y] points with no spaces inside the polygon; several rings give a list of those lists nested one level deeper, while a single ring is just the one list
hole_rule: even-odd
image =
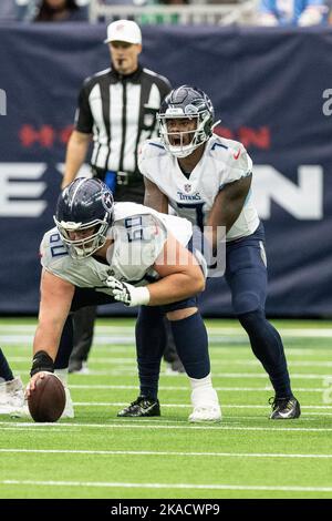
[{"label": "referee in white cap and striped shirt standing at back", "polygon": [[[143,203],[144,181],[137,167],[137,149],[157,134],[156,114],[172,88],[166,78],[139,64],[142,33],[137,23],[112,22],[104,42],[110,47],[112,67],[83,83],[75,127],[68,144],[62,188],[75,178],[93,139],[92,175],[108,185],[116,201]],[[95,307],[82,308],[73,316],[71,372],[84,372],[94,318]],[[183,370],[175,348],[168,344],[165,359],[173,369]]]}]

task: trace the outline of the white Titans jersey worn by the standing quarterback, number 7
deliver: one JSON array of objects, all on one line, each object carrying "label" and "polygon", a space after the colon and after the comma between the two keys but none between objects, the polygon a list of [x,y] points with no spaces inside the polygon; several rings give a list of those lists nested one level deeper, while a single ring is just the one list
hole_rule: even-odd
[{"label": "white Titans jersey worn by the standing quarterback, number 7", "polygon": [[[252,172],[252,161],[243,145],[216,134],[206,143],[203,157],[189,177],[181,172],[177,157],[168,153],[158,139],[144,143],[138,166],[141,173],[167,195],[175,213],[200,229],[207,224],[209,212],[222,186]],[[239,217],[227,234],[227,241],[250,235],[258,225],[259,217],[250,191]]]}]

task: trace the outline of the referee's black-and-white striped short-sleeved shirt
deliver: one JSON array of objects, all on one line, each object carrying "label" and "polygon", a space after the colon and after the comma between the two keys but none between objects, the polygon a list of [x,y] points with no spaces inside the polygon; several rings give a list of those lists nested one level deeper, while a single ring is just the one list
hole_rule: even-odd
[{"label": "referee's black-and-white striped short-sleeved shirt", "polygon": [[136,173],[138,145],[156,134],[156,113],[169,91],[166,78],[141,65],[129,75],[106,69],[87,78],[75,129],[93,134],[91,165]]}]

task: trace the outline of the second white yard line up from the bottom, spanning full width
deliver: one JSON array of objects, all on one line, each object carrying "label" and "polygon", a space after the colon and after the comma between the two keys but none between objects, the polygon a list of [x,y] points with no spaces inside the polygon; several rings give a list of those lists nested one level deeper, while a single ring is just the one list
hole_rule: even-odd
[{"label": "second white yard line up from the bottom, spanning full width", "polygon": [[175,452],[156,450],[69,450],[69,449],[0,449],[0,452],[10,453],[41,453],[41,454],[100,454],[100,456],[183,456],[212,458],[323,458],[331,459],[332,454],[298,454],[298,453],[253,453],[253,452]]}]

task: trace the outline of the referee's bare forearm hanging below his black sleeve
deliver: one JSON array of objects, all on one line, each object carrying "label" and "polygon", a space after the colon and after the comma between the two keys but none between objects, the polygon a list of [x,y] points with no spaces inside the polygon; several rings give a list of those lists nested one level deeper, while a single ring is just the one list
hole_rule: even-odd
[{"label": "referee's bare forearm hanging below his black sleeve", "polygon": [[75,178],[79,170],[85,161],[90,141],[91,134],[79,132],[76,130],[72,132],[66,147],[64,175],[61,188],[68,186]]}]

